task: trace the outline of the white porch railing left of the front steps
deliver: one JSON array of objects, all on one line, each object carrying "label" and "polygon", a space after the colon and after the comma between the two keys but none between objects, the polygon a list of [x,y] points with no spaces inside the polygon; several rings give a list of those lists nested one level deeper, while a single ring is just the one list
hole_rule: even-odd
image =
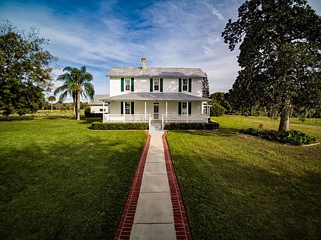
[{"label": "white porch railing left of the front steps", "polygon": [[105,114],[103,122],[148,122],[150,114]]}]

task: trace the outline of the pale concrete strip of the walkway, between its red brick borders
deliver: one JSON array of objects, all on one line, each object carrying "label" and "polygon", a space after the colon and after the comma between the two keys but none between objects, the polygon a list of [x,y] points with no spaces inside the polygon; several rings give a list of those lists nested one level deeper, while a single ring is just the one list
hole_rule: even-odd
[{"label": "pale concrete strip of the walkway, between its red brick borders", "polygon": [[151,133],[130,239],[176,239],[161,133]]}]

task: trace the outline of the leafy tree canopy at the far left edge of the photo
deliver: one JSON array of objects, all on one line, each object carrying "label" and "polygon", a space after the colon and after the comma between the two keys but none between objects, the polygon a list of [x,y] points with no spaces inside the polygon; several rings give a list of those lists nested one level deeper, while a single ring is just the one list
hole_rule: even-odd
[{"label": "leafy tree canopy at the far left edge of the photo", "polygon": [[51,63],[56,58],[44,50],[48,40],[32,27],[19,31],[9,21],[0,26],[0,110],[4,115],[32,113],[52,86]]}]

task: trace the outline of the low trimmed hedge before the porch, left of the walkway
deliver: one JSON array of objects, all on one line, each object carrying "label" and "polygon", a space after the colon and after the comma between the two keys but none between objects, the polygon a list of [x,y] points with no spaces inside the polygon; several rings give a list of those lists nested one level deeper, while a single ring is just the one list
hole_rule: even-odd
[{"label": "low trimmed hedge before the porch, left of the walkway", "polygon": [[92,122],[92,130],[146,130],[147,122]]}]

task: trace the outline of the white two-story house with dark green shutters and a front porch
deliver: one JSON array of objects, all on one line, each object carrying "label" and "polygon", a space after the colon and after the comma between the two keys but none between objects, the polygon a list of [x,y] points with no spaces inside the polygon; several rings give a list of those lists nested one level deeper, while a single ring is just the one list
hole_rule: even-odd
[{"label": "white two-story house with dark green shutters and a front porch", "polygon": [[[200,68],[111,68],[110,96],[103,102],[103,122],[207,122]],[[108,108],[105,106],[108,105]]]}]

